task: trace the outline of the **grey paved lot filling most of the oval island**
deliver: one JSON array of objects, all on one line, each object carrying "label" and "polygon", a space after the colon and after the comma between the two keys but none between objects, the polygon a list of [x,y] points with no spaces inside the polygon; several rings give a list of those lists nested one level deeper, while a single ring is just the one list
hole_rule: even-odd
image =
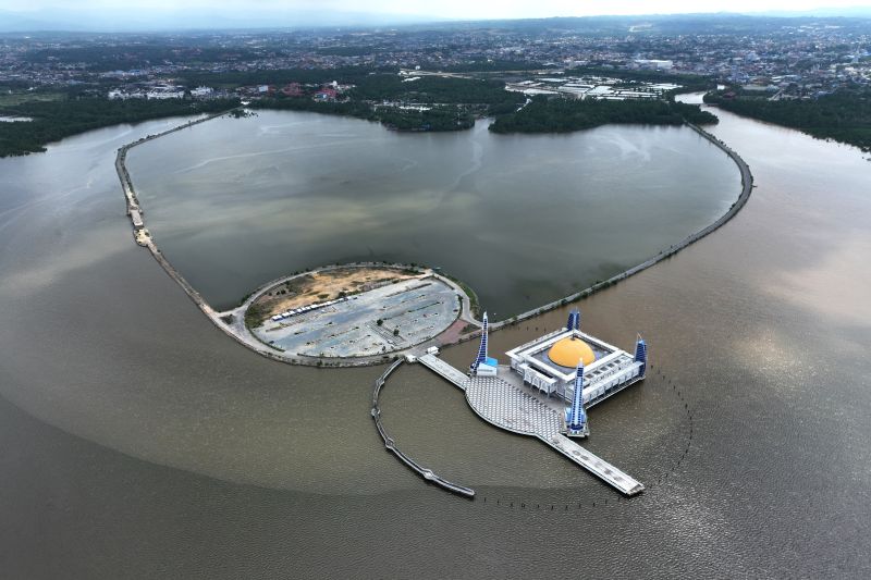
[{"label": "grey paved lot filling most of the oval island", "polygon": [[279,322],[268,320],[254,333],[291,355],[375,356],[432,338],[457,319],[459,308],[456,292],[430,276],[357,294]]}]

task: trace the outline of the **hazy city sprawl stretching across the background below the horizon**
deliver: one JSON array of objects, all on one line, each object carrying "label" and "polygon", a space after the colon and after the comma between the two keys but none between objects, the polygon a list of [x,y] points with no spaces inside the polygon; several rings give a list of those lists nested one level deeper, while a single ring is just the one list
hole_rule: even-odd
[{"label": "hazy city sprawl stretching across the background below the horizon", "polygon": [[[871,34],[851,18],[556,20],[398,28],[184,34],[9,34],[0,39],[0,86],[126,98],[257,98],[283,94],[341,100],[339,82],[197,83],[286,70],[512,71],[510,90],[619,97],[602,71],[659,72],[623,97],[658,96],[680,75],[703,75],[772,100],[813,99],[871,78]],[[596,70],[599,76],[585,75]],[[573,71],[578,71],[575,73]],[[206,77],[208,79],[208,77]],[[235,85],[235,86],[234,86]]]}]

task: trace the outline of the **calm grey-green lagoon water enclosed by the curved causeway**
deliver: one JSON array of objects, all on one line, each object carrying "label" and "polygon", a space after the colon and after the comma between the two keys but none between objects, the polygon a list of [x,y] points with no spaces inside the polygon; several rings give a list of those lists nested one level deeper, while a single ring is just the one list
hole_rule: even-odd
[{"label": "calm grey-green lagoon water enclosed by the curved causeway", "polygon": [[442,267],[500,318],[640,263],[735,201],[734,163],[688,128],[406,135],[296,112],[134,148],[151,233],[219,308],[334,261]]}]

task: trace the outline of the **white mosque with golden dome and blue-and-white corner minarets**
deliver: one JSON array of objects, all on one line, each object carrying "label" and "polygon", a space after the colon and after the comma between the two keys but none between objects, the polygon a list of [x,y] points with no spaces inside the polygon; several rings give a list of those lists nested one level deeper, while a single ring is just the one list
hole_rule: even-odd
[{"label": "white mosque with golden dome and blue-and-white corner minarets", "polygon": [[[496,359],[488,356],[488,322],[483,318],[481,346],[469,367],[477,377],[496,377]],[[563,432],[589,433],[586,409],[642,380],[647,370],[647,344],[638,336],[635,355],[580,331],[580,311],[573,310],[564,329],[536,338],[506,353],[511,372],[524,386],[565,402]],[[518,381],[519,382],[519,381]]]}]

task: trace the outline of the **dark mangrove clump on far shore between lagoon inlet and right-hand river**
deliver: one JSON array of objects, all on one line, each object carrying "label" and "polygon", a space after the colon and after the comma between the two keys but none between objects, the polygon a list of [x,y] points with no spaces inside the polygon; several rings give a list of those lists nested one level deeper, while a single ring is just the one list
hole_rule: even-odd
[{"label": "dark mangrove clump on far shore between lagoon inlet and right-hand river", "polygon": [[680,125],[685,121],[713,124],[716,116],[698,106],[663,100],[573,100],[536,97],[523,110],[500,116],[495,133],[567,133],[608,123]]}]

